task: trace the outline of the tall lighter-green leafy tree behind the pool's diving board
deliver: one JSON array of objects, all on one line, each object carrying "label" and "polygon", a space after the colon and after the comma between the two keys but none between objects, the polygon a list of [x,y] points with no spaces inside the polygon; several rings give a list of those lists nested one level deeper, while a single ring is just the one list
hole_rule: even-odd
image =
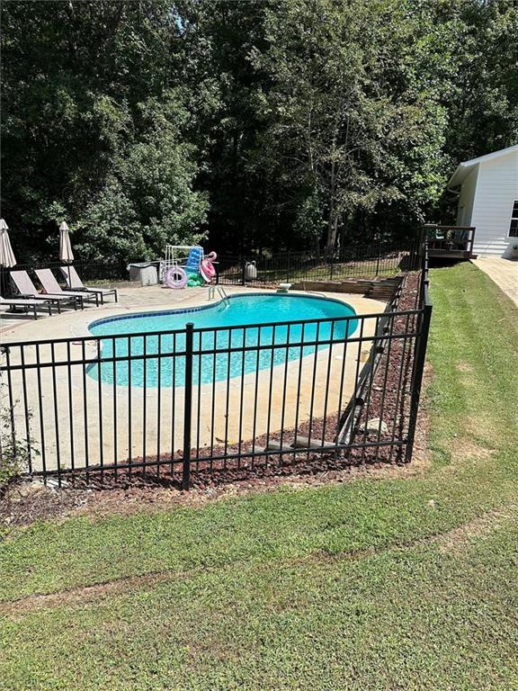
[{"label": "tall lighter-green leafy tree behind the pool's diving board", "polygon": [[445,112],[426,65],[439,46],[425,38],[433,13],[413,5],[285,0],[267,13],[269,48],[255,55],[272,74],[264,149],[296,223],[325,229],[327,252],[359,217],[397,202],[417,217],[441,193]]}]

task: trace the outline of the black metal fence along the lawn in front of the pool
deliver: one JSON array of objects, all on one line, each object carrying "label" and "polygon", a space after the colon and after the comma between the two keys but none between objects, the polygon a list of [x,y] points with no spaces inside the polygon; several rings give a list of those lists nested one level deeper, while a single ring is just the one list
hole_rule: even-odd
[{"label": "black metal fence along the lawn in front of the pool", "polygon": [[375,314],[6,344],[4,453],[59,483],[184,489],[409,461],[432,310],[419,261]]}]

